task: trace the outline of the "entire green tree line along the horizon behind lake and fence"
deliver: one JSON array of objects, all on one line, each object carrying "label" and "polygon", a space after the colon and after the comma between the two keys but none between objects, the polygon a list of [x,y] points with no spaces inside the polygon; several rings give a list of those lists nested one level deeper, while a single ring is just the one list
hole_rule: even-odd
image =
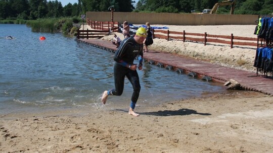
[{"label": "entire green tree line along the horizon behind lake and fence", "polygon": [[[225,0],[223,0],[225,1]],[[87,11],[192,13],[202,12],[222,2],[219,0],[78,0],[62,6],[47,0],[0,0],[1,19],[36,20],[40,18],[74,17]],[[217,14],[229,14],[231,6],[219,7]],[[234,14],[271,15],[273,0],[237,0]]]}]

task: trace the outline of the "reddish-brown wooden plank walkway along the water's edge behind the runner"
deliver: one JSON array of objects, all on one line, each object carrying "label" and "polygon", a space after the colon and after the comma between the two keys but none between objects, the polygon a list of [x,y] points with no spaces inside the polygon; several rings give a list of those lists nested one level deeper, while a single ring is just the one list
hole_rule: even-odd
[{"label": "reddish-brown wooden plank walkway along the water's edge behind the runner", "polygon": [[[115,52],[117,49],[111,42],[100,39],[78,39],[77,41],[109,50],[111,52]],[[208,76],[213,81],[220,83],[225,83],[230,79],[233,79],[240,83],[243,90],[256,91],[273,96],[273,78],[269,76],[257,76],[254,72],[225,67],[195,60],[190,57],[182,57],[171,53],[162,53],[153,50],[144,53],[144,59],[148,62],[152,60],[155,64],[162,63],[164,67],[170,65],[173,70],[179,68],[185,73],[195,72],[199,78]]]}]

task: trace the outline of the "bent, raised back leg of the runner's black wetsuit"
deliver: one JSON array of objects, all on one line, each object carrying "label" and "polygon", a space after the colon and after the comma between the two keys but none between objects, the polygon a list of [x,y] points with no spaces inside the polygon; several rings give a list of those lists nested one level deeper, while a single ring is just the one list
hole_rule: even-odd
[{"label": "bent, raised back leg of the runner's black wetsuit", "polygon": [[129,72],[129,69],[115,63],[114,65],[114,80],[115,80],[115,89],[109,91],[110,95],[120,96],[123,93],[124,89],[124,79],[126,73]]}]

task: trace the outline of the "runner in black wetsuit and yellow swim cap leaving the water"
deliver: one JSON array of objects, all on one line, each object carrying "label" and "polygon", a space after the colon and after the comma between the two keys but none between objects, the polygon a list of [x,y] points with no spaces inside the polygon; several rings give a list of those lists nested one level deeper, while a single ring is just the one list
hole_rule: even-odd
[{"label": "runner in black wetsuit and yellow swim cap leaving the water", "polygon": [[[133,116],[139,116],[139,114],[136,114],[133,111],[141,90],[139,74],[136,71],[136,68],[142,70],[143,41],[146,36],[147,32],[145,28],[141,27],[136,31],[134,36],[126,38],[120,43],[114,57],[114,60],[116,61],[114,64],[115,89],[105,91],[102,96],[103,104],[106,103],[109,95],[120,96],[123,93],[124,79],[126,76],[133,87],[129,108],[129,114]],[[139,56],[139,66],[133,63],[136,56]]]}]

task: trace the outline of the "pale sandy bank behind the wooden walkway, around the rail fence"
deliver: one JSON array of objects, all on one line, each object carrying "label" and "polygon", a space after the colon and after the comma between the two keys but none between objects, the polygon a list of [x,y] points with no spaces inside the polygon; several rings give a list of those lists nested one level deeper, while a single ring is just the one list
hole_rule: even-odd
[{"label": "pale sandy bank behind the wooden walkway, around the rail fence", "polygon": [[[254,29],[256,25],[222,25],[222,26],[173,26],[173,25],[151,25],[157,27],[168,27],[169,31],[183,32],[183,30],[189,33],[207,33],[211,35],[225,35],[241,37],[256,38],[254,35]],[[123,35],[116,33],[121,39]],[[195,37],[195,36],[191,36]],[[199,37],[200,38],[200,37]],[[103,40],[111,41],[112,35],[105,36]],[[229,41],[229,40],[227,40]],[[236,40],[240,41],[240,40]],[[253,41],[252,41],[253,42]],[[234,46],[231,48],[229,44],[220,43],[207,43],[204,46],[203,43],[185,42],[181,40],[165,40],[154,39],[154,44],[149,46],[150,50],[163,51],[169,53],[175,53],[179,55],[194,57],[199,60],[212,62],[215,64],[221,64],[224,66],[240,68],[249,71],[255,71],[253,67],[254,58],[256,54],[256,47],[254,46]]]}]

